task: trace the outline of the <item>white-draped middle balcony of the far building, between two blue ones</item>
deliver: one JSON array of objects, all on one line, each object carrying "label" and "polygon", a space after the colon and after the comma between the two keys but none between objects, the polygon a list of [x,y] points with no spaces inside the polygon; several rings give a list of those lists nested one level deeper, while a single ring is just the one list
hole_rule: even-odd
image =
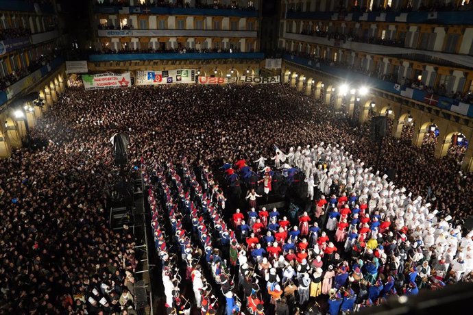
[{"label": "white-draped middle balcony of the far building, between two blue ones", "polygon": [[256,31],[228,29],[99,29],[99,37],[243,37],[256,38]]}]

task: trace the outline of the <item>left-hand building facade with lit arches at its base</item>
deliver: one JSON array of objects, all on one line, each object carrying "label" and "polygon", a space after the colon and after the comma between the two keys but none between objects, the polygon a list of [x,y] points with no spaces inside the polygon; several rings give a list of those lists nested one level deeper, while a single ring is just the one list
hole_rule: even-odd
[{"label": "left-hand building facade with lit arches at its base", "polygon": [[[58,25],[55,1],[0,2],[0,157],[23,145],[27,126],[64,92]],[[42,107],[18,103],[30,92],[38,92]]]}]

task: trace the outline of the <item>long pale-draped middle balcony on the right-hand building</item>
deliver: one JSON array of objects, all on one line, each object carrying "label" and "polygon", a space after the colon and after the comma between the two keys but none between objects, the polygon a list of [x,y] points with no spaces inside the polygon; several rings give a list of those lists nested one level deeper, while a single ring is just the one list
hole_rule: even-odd
[{"label": "long pale-draped middle balcony on the right-hand building", "polygon": [[339,47],[343,49],[349,49],[352,51],[363,51],[365,53],[372,53],[374,55],[428,55],[433,58],[439,58],[448,62],[454,62],[464,66],[465,68],[471,68],[473,65],[473,56],[470,55],[457,55],[452,53],[441,53],[439,51],[424,51],[420,49],[410,49],[402,47],[391,47],[384,45],[367,44],[365,42],[352,42],[336,40],[335,38],[318,37],[311,35],[302,35],[295,33],[284,33],[284,38],[289,40],[298,40],[300,42],[309,42],[316,45],[325,45],[331,47]]}]

